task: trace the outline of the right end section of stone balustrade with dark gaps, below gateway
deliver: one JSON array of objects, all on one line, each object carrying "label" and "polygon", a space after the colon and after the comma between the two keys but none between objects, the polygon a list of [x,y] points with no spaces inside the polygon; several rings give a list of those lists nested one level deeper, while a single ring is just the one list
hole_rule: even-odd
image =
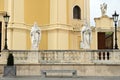
[{"label": "right end section of stone balustrade with dark gaps, below gateway", "polygon": [[95,64],[120,64],[120,50],[92,50],[91,59]]}]

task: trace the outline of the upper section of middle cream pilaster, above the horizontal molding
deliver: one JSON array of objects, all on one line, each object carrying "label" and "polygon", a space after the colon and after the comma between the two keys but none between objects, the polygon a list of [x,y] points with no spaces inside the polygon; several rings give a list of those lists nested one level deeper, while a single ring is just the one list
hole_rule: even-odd
[{"label": "upper section of middle cream pilaster, above the horizontal molding", "polygon": [[50,24],[66,24],[66,0],[50,0]]}]

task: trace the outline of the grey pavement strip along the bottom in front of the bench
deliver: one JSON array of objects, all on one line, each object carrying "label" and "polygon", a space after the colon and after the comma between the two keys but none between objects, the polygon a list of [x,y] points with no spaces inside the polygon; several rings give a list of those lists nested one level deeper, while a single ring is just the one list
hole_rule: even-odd
[{"label": "grey pavement strip along the bottom in front of the bench", "polygon": [[120,80],[119,76],[116,77],[90,77],[90,76],[82,76],[77,78],[71,77],[46,77],[42,78],[39,76],[26,76],[26,77],[0,77],[0,80]]}]

